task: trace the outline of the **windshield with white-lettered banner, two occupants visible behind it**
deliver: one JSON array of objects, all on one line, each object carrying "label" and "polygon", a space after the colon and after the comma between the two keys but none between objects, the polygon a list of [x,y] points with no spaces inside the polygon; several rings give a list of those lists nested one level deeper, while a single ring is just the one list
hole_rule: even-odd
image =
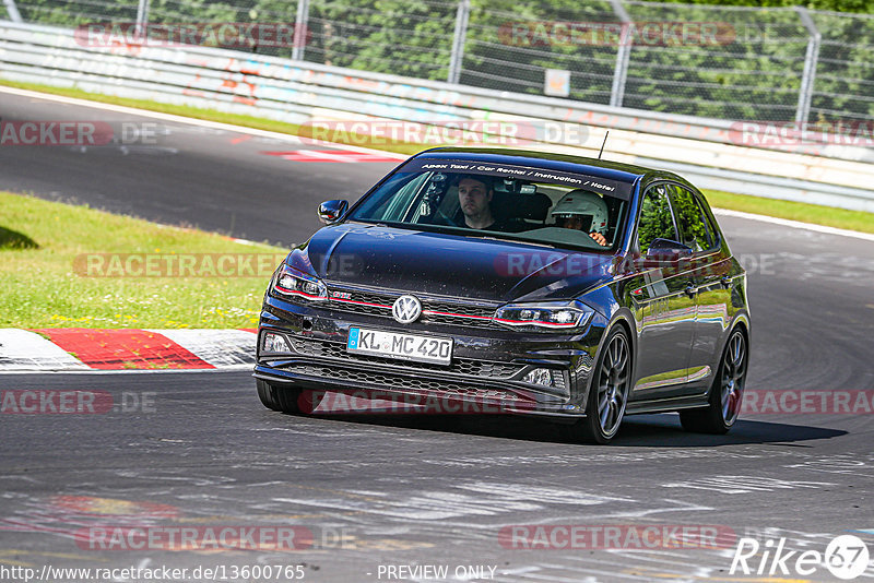
[{"label": "windshield with white-lettered banner, two occupants visible behind it", "polygon": [[613,251],[622,240],[630,188],[543,168],[414,159],[350,218]]}]

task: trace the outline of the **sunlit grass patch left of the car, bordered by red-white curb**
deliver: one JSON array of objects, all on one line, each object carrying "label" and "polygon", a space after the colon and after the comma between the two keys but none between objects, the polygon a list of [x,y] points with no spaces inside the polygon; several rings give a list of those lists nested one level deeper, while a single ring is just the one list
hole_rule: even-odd
[{"label": "sunlit grass patch left of the car, bordered by red-white curb", "polygon": [[[286,253],[7,192],[0,192],[0,328],[255,328],[270,277],[263,272]],[[199,253],[256,253],[267,254],[269,266],[256,276],[135,277],[113,274],[102,259],[110,276],[95,277],[85,271],[87,257],[102,257],[95,253],[196,261]]]}]

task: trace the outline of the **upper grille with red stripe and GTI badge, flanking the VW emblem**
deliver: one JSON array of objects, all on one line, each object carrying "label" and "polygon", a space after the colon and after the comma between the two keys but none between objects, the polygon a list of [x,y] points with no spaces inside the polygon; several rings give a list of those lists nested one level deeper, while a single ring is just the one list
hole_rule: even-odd
[{"label": "upper grille with red stripe and GTI badge, flanking the VW emblem", "polygon": [[[338,298],[334,297],[335,293],[347,294],[349,297]],[[400,294],[379,294],[374,291],[338,287],[330,287],[328,295],[331,298],[330,307],[334,310],[352,313],[365,313],[368,316],[380,316],[385,318],[391,318],[391,306],[394,304],[394,300],[401,296]],[[495,308],[497,306],[474,306],[471,304],[428,298],[420,298],[420,300],[422,301],[422,309],[424,311],[442,312],[435,314],[424,313],[418,320],[420,322],[462,324],[465,326],[475,328],[495,326],[491,318],[495,313]],[[475,318],[464,318],[465,316]]]}]

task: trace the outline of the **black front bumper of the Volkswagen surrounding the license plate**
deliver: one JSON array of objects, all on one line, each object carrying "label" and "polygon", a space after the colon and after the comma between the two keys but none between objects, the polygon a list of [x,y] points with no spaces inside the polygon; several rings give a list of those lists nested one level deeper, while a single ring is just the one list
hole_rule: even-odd
[{"label": "black front bumper of the Volkswagen surrounding the license plate", "polygon": [[[345,347],[352,326],[451,336],[452,361],[444,366],[350,354]],[[448,398],[491,405],[491,411],[500,413],[581,416],[603,331],[598,314],[576,335],[520,333],[482,322],[404,325],[388,317],[350,313],[323,304],[298,305],[268,295],[255,377],[312,390]],[[291,350],[264,352],[267,332],[281,334]],[[525,374],[536,368],[559,371],[564,382],[555,386],[525,382]]]}]

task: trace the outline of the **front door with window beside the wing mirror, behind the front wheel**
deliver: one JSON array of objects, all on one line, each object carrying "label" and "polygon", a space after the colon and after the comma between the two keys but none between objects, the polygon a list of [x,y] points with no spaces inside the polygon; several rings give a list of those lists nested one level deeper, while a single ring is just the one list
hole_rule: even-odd
[{"label": "front door with window beside the wing mirror, behind the front wheel", "polygon": [[638,326],[635,401],[682,394],[687,379],[695,325],[689,261],[647,257],[656,239],[680,241],[670,188],[668,183],[649,187],[640,203],[636,241],[640,259],[630,286]]}]

